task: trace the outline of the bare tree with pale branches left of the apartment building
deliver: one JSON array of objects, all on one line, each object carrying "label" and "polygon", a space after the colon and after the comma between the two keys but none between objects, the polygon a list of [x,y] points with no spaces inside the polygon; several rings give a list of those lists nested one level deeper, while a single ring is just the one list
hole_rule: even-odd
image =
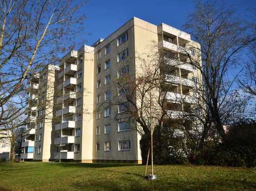
[{"label": "bare tree with pale branches left of the apartment building", "polygon": [[[75,46],[74,37],[84,34],[84,15],[77,11],[86,1],[2,0],[0,3],[0,123],[7,102],[25,102],[25,80],[58,55]],[[76,34],[76,35],[75,35]],[[80,41],[83,43],[83,40]],[[4,117],[5,116],[5,117]]]}]

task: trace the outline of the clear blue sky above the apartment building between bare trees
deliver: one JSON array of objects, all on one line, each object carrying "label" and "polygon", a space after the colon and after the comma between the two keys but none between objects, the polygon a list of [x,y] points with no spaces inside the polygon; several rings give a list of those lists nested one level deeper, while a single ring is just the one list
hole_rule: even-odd
[{"label": "clear blue sky above the apartment building between bare trees", "polygon": [[[149,23],[166,23],[178,29],[186,22],[196,0],[91,0],[81,13],[87,16],[84,24],[87,45],[106,38],[125,22],[136,16]],[[239,16],[246,16],[247,8],[255,8],[256,0],[224,0],[235,5]]]}]

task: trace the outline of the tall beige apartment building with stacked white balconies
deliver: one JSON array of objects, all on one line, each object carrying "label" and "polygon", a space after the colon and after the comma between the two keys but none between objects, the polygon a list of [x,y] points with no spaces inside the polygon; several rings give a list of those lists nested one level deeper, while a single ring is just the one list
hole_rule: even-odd
[{"label": "tall beige apartment building with stacked white balconies", "polygon": [[[58,67],[50,65],[46,72],[33,76],[29,81],[24,158],[141,163],[136,122],[126,118],[122,108],[108,100],[118,97],[125,101],[125,90],[120,89],[116,79],[121,73],[136,75],[136,55],[149,55],[152,42],[159,46],[159,51],[174,53],[181,63],[188,59],[181,48],[192,55],[195,51],[189,48],[191,45],[200,48],[190,34],[164,23],[157,26],[133,17],[107,38],[70,51]],[[192,104],[187,95],[192,95],[198,71],[185,63],[174,67],[175,74],[166,74],[166,108],[178,120],[179,115],[175,114]],[[50,90],[45,85],[48,83],[52,84]],[[40,92],[41,89],[44,91]],[[177,103],[177,98],[182,103]],[[47,108],[42,104],[39,109],[40,103],[47,103]]]}]

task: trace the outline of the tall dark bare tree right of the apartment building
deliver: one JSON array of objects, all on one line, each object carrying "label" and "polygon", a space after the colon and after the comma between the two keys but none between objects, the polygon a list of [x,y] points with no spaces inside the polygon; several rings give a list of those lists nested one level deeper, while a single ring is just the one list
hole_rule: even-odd
[{"label": "tall dark bare tree right of the apartment building", "polygon": [[202,89],[198,89],[198,95],[204,103],[204,107],[200,108],[204,110],[204,115],[195,115],[204,117],[201,118],[204,124],[201,139],[205,140],[209,130],[212,130],[225,141],[224,125],[231,116],[243,112],[245,103],[236,102],[238,95],[234,82],[240,71],[233,69],[240,64],[239,53],[252,39],[244,22],[236,18],[234,9],[217,0],[199,1],[184,27],[201,45],[201,50],[191,48],[202,57],[202,67],[198,67],[198,60],[188,54],[190,64],[202,74],[202,82],[198,86]]}]

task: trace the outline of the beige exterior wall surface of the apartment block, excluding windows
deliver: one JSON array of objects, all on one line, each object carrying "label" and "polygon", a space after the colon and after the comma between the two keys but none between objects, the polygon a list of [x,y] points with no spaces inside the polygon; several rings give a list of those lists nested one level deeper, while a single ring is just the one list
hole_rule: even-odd
[{"label": "beige exterior wall surface of the apartment block, excluding windows", "polygon": [[[41,154],[34,154],[34,160],[58,160],[59,151],[64,151],[61,156],[66,159],[81,162],[141,162],[140,154],[140,135],[135,129],[135,121],[130,121],[130,130],[118,131],[118,120],[125,119],[124,114],[118,114],[118,103],[125,102],[125,98],[117,95],[118,87],[118,76],[117,72],[124,66],[129,66],[129,75],[136,77],[140,71],[140,61],[137,57],[147,58],[148,55],[152,54],[152,50],[158,48],[159,41],[164,41],[163,34],[170,33],[170,35],[176,35],[176,41],[179,43],[188,43],[191,45],[199,45],[196,42],[190,40],[190,35],[179,31],[173,27],[170,27],[164,23],[156,26],[148,23],[136,17],[133,17],[118,30],[113,32],[106,39],[100,39],[99,44],[93,46],[83,46],[78,51],[70,51],[63,57],[63,61],[60,63],[60,70],[52,70],[53,75],[47,75],[47,84],[54,84],[53,88],[49,89],[46,93],[49,97],[57,98],[61,100],[56,102],[54,99],[50,102],[52,105],[46,113],[50,115],[44,119],[44,127],[37,129],[35,134],[39,135],[42,133],[42,140],[35,142],[34,146],[41,146]],[[128,33],[128,40],[117,46],[117,38],[125,33]],[[110,45],[110,52],[105,54],[105,47]],[[174,46],[174,45],[173,45]],[[178,47],[179,44],[175,45]],[[129,49],[129,56],[123,61],[117,62],[117,54]],[[162,48],[163,49],[163,48]],[[157,49],[158,50],[158,49]],[[160,50],[160,49],[159,49]],[[101,52],[101,57],[98,59],[97,53]],[[83,57],[82,64],[80,63],[80,57]],[[105,62],[110,60],[110,68],[105,69]],[[70,61],[77,67],[76,72],[70,75],[76,81],[75,86],[72,90],[66,90],[63,87],[65,80],[69,79],[70,76],[65,74],[65,69],[70,64]],[[97,68],[101,67],[101,71],[98,74]],[[62,70],[63,69],[63,70]],[[82,69],[82,77],[78,78],[77,72]],[[54,73],[56,72],[56,73]],[[180,69],[179,72],[181,73]],[[197,71],[198,72],[198,71]],[[62,77],[59,77],[63,73]],[[105,76],[110,75],[110,83],[105,84]],[[189,74],[192,76],[200,76],[196,71]],[[179,76],[181,78],[181,76]],[[97,88],[97,81],[101,81],[101,86]],[[77,84],[82,83],[83,91],[77,91]],[[39,84],[41,87],[43,83]],[[180,85],[181,86],[181,85]],[[182,87],[182,86],[181,86]],[[181,88],[182,89],[182,88]],[[75,99],[69,101],[64,100],[63,92],[75,92]],[[105,92],[111,91],[111,115],[108,117],[104,116],[104,109],[109,106],[105,101]],[[56,92],[61,92],[56,93]],[[182,94],[182,92],[181,92]],[[97,96],[100,95],[100,102],[97,103]],[[82,98],[82,105],[77,105],[77,100]],[[68,121],[75,123],[74,127],[68,127],[63,130],[60,125],[58,130],[55,130],[56,124],[63,124],[61,120],[66,117],[62,108],[63,106],[73,106],[75,113],[70,112]],[[139,104],[139,103],[138,103]],[[57,108],[58,107],[58,108]],[[56,116],[56,111],[58,115]],[[63,110],[62,110],[63,111]],[[96,119],[96,113],[99,112],[101,117]],[[77,115],[81,114],[82,120],[77,120]],[[55,119],[55,120],[52,120]],[[110,124],[111,132],[105,133],[105,125]],[[100,128],[100,134],[96,135],[96,128]],[[76,135],[76,130],[81,129],[81,135]],[[74,142],[67,143],[66,145],[60,146],[59,143],[54,143],[57,135],[66,136],[65,131],[68,131],[68,136],[72,136]],[[74,137],[74,138],[73,138]],[[62,139],[61,139],[62,140]],[[118,141],[131,140],[131,149],[128,151],[119,151]],[[105,151],[105,143],[110,142],[110,151]],[[100,144],[100,151],[96,151],[96,144]],[[80,145],[80,151],[75,150],[75,145]]]}]

